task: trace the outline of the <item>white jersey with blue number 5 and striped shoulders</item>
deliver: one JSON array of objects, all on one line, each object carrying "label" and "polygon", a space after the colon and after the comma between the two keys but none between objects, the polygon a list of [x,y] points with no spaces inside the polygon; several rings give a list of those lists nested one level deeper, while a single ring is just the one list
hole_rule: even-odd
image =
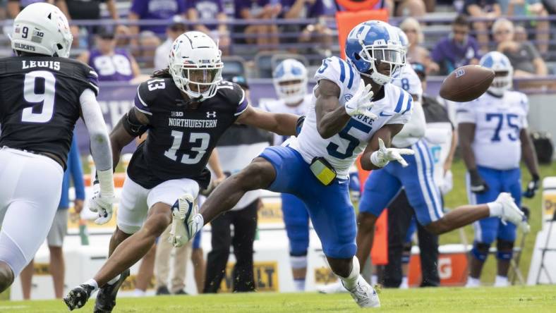
[{"label": "white jersey with blue number 5 and striped shoulders", "polygon": [[[315,80],[318,82],[322,79],[330,80],[340,87],[339,104],[342,106],[353,97],[361,83],[361,75],[356,68],[336,56],[322,61],[322,66],[315,73]],[[343,130],[323,139],[317,130],[316,98],[313,92],[301,133],[289,140],[289,146],[296,149],[308,163],[315,157],[324,157],[334,166],[338,178],[348,178],[349,167],[363,153],[377,130],[387,124],[405,124],[411,118],[411,95],[392,84],[384,86],[384,93],[384,97],[376,100],[370,110],[378,116],[376,120],[363,115],[353,116]]]}]

